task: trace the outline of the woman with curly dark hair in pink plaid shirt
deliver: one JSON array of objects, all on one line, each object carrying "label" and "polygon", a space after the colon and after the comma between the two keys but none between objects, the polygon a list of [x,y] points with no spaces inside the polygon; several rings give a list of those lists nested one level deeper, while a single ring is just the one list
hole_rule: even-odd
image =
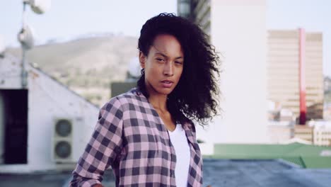
[{"label": "woman with curly dark hair in pink plaid shirt", "polygon": [[196,25],[171,13],[147,21],[139,38],[137,89],[110,99],[73,172],[71,186],[202,186],[192,120],[217,111],[218,56]]}]

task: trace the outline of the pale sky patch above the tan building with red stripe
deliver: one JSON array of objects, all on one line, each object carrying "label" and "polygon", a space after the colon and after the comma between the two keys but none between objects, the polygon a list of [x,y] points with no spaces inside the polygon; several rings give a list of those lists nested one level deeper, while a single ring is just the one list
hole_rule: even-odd
[{"label": "pale sky patch above the tan building with red stripe", "polygon": [[323,74],[331,77],[331,1],[267,0],[267,29],[323,33]]}]

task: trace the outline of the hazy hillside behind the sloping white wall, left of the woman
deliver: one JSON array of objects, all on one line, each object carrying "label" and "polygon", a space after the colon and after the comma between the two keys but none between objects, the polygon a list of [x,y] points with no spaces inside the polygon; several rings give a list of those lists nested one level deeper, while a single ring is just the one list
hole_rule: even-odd
[{"label": "hazy hillside behind the sloping white wall, left of the woman", "polygon": [[[8,52],[21,57],[18,48]],[[108,35],[36,46],[27,52],[27,59],[101,106],[110,98],[111,81],[124,81],[128,64],[137,54],[137,38]]]}]

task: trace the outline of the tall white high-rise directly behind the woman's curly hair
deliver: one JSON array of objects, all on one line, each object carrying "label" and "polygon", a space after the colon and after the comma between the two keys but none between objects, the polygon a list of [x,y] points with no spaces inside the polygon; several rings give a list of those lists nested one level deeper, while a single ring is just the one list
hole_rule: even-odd
[{"label": "tall white high-rise directly behind the woman's curly hair", "polygon": [[178,14],[197,23],[221,57],[223,112],[207,132],[199,130],[198,138],[224,143],[269,142],[265,0],[178,0]]}]

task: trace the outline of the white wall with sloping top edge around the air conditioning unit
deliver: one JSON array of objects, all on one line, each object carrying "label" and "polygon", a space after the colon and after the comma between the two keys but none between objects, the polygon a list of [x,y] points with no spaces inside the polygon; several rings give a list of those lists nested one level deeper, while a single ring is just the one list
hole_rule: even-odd
[{"label": "white wall with sloping top edge around the air conditioning unit", "polygon": [[[13,74],[0,77],[0,82],[5,82],[0,84],[0,89],[21,89],[19,64],[17,59],[9,55],[6,60],[0,59],[0,74]],[[74,121],[73,162],[77,161],[98,120],[96,106],[40,70],[29,66],[28,72],[28,164],[2,164],[1,172],[57,169],[57,164],[52,160],[54,118],[70,118]]]}]

